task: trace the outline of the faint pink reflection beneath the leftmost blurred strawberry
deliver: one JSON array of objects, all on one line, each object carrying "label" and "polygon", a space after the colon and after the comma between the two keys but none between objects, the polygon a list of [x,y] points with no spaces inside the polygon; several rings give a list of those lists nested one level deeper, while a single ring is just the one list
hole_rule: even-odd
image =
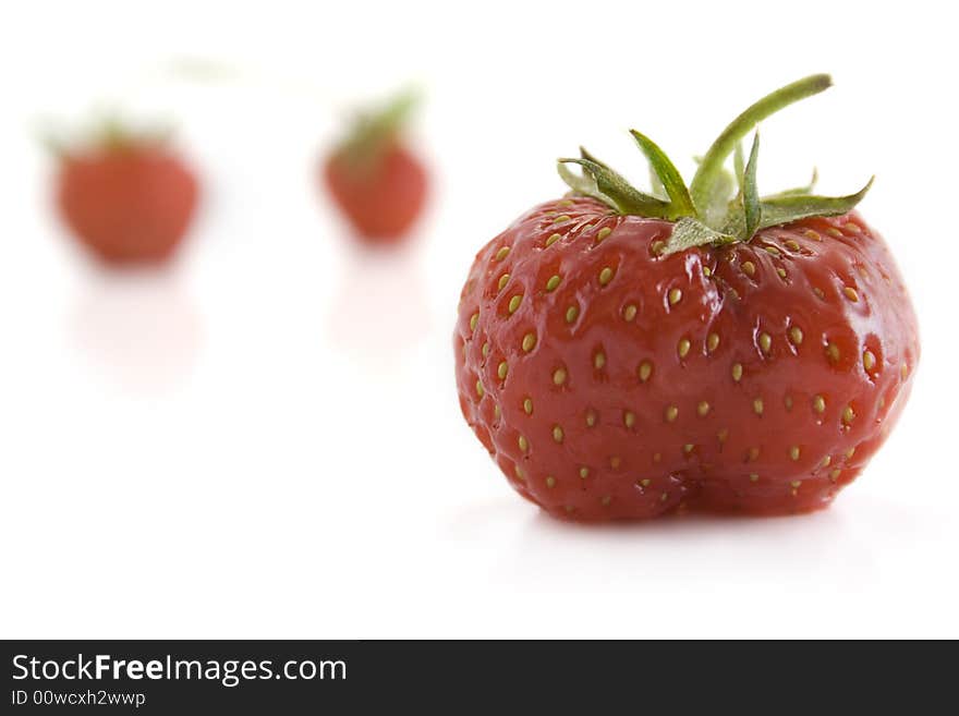
[{"label": "faint pink reflection beneath the leftmost blurred strawberry", "polygon": [[203,323],[175,274],[99,270],[70,316],[85,362],[133,392],[170,389],[189,375]]}]

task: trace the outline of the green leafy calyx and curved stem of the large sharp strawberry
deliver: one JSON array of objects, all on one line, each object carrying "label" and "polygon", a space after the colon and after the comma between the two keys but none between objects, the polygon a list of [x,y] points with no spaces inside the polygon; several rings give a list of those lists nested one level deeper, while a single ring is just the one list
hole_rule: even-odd
[{"label": "green leafy calyx and curved stem of the large sharp strawberry", "polygon": [[[814,216],[838,216],[850,211],[865,196],[873,180],[855,194],[818,196],[813,194],[816,174],[809,185],[760,196],[756,187],[758,132],[748,157],[742,139],[756,125],[789,105],[828,88],[828,75],[816,74],[793,82],[763,97],[723,130],[687,185],[669,157],[647,136],[631,130],[633,139],[650,165],[652,192],[633,187],[626,179],[585,149],[579,158],[560,159],[559,175],[576,194],[592,196],[619,214],[675,221],[665,254],[693,246],[748,242],[757,231]],[[733,170],[726,169],[730,155]],[[580,172],[570,169],[579,165]]]}]

